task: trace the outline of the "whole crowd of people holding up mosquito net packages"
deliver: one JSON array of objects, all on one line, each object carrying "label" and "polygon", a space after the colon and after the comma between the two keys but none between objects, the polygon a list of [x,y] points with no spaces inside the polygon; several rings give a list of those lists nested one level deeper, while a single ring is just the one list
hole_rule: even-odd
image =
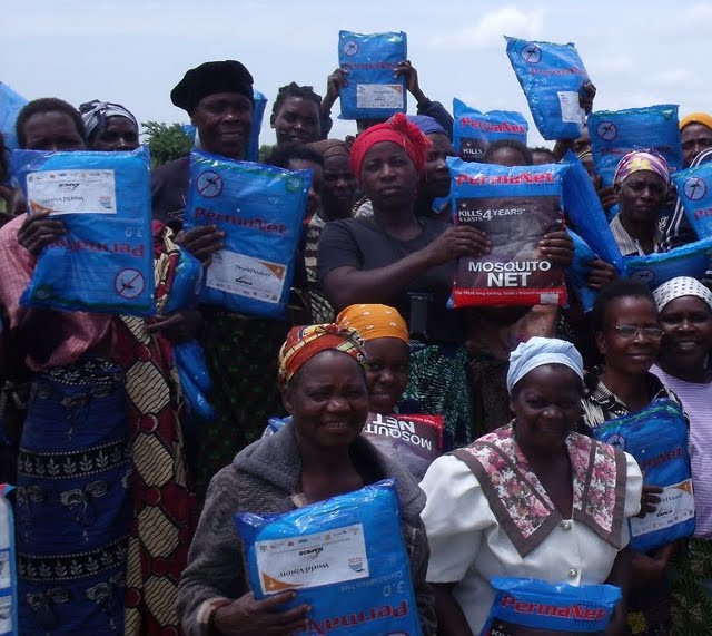
[{"label": "whole crowd of people holding up mosquito net packages", "polygon": [[[565,309],[447,309],[456,261],[492,244],[451,219],[452,116],[409,61],[395,75],[417,115],[357,121],[343,140],[328,133],[346,71],[328,77],[324,98],[294,82],[279,89],[266,162],[312,172],[280,320],[166,311],[180,254],[208,267],[225,247],[218,225],[182,227],[189,157],[152,173],[156,316],[24,306],[38,256],[66,226],[24,209],[1,149],[0,482],[17,485],[19,633],[299,633],[309,607],[283,607],[295,591],[250,590],[233,516],[286,512],[396,477],[426,635],[479,634],[498,575],[619,586],[607,634],[712,634],[712,292],[685,276],[650,290],[597,257],[590,313],[573,294]],[[589,112],[594,96],[582,86]],[[244,65],[190,69],[170,99],[201,149],[245,158],[254,92]],[[680,126],[684,167],[710,160],[712,116]],[[17,138],[29,150],[123,151],[139,147],[140,130],[119,104],[42,98],[19,114]],[[623,157],[611,188],[586,131],[553,149],[505,139],[483,160],[552,164],[568,149],[605,208],[620,206],[611,229],[622,255],[695,241],[653,151]],[[538,248],[571,266],[565,227]],[[185,427],[174,356],[190,339],[205,350],[216,413],[197,429]],[[689,419],[696,530],[634,552],[627,520],[654,513],[660,488],[594,431],[661,398]],[[369,413],[442,415],[446,454],[418,485],[360,434]],[[289,423],[263,437],[285,414]]]}]

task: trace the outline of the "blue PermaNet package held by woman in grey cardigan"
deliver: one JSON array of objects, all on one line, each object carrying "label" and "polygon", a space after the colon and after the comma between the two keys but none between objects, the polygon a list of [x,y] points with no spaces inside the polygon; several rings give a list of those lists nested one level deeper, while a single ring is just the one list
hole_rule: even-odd
[{"label": "blue PermaNet package held by woman in grey cardigan", "polygon": [[422,634],[395,480],[284,515],[235,515],[256,598],[295,589],[298,635]]}]

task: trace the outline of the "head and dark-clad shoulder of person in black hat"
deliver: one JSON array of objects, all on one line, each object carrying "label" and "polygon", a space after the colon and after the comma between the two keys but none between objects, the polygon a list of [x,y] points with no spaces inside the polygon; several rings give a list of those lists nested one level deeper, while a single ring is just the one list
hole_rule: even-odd
[{"label": "head and dark-clad shoulder of person in black hat", "polygon": [[[170,91],[170,100],[190,116],[200,147],[214,155],[244,159],[253,125],[253,76],[236,60],[210,61],[190,69]],[[154,218],[175,231],[182,227],[190,157],[154,172]]]}]

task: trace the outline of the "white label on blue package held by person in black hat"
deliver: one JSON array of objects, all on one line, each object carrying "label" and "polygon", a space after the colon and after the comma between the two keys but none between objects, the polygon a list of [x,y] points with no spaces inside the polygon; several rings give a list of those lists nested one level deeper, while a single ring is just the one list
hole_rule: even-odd
[{"label": "white label on blue package held by person in black hat", "polygon": [[221,249],[212,255],[206,285],[228,294],[278,303],[286,275],[286,265]]}]

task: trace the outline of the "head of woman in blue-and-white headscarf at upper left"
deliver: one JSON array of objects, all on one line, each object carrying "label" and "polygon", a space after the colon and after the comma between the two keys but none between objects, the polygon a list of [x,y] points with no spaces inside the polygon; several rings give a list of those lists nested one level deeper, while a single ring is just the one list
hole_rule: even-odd
[{"label": "head of woman in blue-and-white headscarf at upper left", "polygon": [[95,99],[79,106],[91,150],[135,150],[140,146],[136,117],[120,104]]}]

